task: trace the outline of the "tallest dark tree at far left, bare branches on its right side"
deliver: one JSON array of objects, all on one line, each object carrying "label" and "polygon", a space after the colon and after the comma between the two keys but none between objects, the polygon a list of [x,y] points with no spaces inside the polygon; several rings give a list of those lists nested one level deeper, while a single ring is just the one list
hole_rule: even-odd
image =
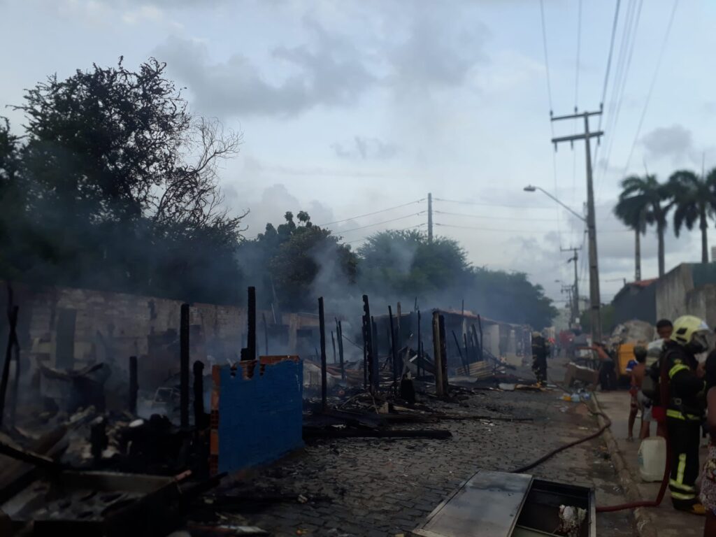
[{"label": "tallest dark tree at far left, bare branches on its right side", "polygon": [[190,115],[164,69],[120,58],[49,77],[15,107],[26,195],[11,264],[24,279],[233,301],[241,216],[223,207],[216,166],[241,135]]}]

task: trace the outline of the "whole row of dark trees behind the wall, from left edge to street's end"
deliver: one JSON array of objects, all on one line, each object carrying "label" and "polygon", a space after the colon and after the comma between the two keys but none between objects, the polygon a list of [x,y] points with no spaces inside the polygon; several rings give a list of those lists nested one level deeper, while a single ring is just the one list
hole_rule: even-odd
[{"label": "whole row of dark trees behind the wall, from left edge to street's end", "polygon": [[[0,122],[0,277],[185,301],[314,311],[316,296],[359,307],[420,299],[536,328],[556,310],[524,274],[475,269],[451,239],[386,231],[357,252],[308,213],[241,236],[217,165],[241,135],[195,117],[164,64],[95,65],[26,92],[25,135]],[[1,118],[0,118],[1,119]]]}]

